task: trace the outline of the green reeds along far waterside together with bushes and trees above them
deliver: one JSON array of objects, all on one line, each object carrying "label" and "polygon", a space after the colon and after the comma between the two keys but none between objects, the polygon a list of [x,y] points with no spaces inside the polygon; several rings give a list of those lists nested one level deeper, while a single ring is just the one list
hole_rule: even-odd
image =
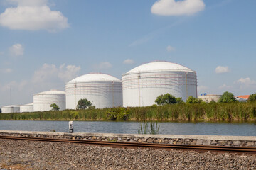
[{"label": "green reeds along far waterside together with bushes and trees above them", "polygon": [[[193,96],[189,96],[185,103],[182,98],[164,94],[158,96],[155,102],[158,106],[155,104],[147,107],[95,109],[90,101],[81,99],[78,101],[78,110],[58,111],[51,105],[53,108],[51,111],[0,113],[0,120],[225,121],[256,123],[256,94],[252,94],[247,102],[238,102],[232,93],[225,91],[218,102],[210,101],[210,103]],[[147,124],[141,125],[140,132],[143,133],[143,127],[146,128],[147,126]]]}]

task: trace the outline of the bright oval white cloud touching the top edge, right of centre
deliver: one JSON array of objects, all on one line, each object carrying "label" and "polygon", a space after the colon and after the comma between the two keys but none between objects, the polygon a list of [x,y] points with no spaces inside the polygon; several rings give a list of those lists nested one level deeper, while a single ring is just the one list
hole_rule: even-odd
[{"label": "bright oval white cloud touching the top edge, right of centre", "polygon": [[151,7],[151,13],[161,16],[193,15],[204,8],[203,0],[158,0]]}]

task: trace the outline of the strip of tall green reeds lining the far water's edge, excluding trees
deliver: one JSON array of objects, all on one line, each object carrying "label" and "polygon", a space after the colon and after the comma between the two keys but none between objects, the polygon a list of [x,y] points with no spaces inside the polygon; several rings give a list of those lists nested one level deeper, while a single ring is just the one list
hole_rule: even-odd
[{"label": "strip of tall green reeds lining the far water's edge, excluding trees", "polygon": [[0,120],[228,121],[256,119],[256,103],[173,104],[137,108],[0,114]]}]

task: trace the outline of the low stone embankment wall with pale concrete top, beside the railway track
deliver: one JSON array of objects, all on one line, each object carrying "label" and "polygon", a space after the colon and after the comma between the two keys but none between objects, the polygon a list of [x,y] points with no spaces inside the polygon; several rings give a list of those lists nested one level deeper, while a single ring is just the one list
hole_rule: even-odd
[{"label": "low stone embankment wall with pale concrete top, beside the railway track", "polygon": [[101,140],[117,142],[148,142],[177,145],[213,145],[256,147],[254,136],[215,136],[215,135],[137,135],[114,133],[65,133],[65,132],[30,132],[0,130],[0,135],[19,137],[48,137],[58,139]]}]

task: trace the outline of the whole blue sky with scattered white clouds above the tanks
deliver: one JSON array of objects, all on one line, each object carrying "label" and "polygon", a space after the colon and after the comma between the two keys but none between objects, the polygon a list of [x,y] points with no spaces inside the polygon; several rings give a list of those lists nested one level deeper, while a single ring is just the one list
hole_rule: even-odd
[{"label": "whole blue sky with scattered white clouds above the tanks", "polygon": [[[162,6],[161,6],[162,5]],[[164,6],[164,7],[163,7]],[[198,94],[256,92],[255,0],[0,0],[0,107],[90,72],[177,62]],[[126,61],[126,62],[124,62]]]}]

